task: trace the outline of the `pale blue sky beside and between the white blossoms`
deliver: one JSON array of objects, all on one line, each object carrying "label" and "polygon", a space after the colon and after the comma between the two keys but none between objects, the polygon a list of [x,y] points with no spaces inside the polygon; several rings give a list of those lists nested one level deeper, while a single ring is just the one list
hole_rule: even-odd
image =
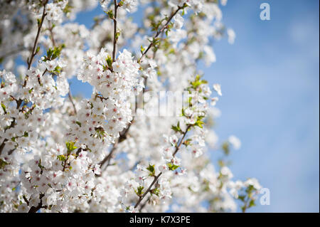
[{"label": "pale blue sky beside and between the white blossoms", "polygon": [[[262,2],[270,21],[260,20]],[[270,206],[252,212],[319,212],[319,1],[233,0],[222,10],[235,43],[215,43],[217,62],[199,68],[222,86],[220,139],[242,140],[230,155],[235,179],[254,176],[270,189]],[[90,26],[97,12],[76,21]],[[73,92],[81,90],[90,95],[83,85]]]}]

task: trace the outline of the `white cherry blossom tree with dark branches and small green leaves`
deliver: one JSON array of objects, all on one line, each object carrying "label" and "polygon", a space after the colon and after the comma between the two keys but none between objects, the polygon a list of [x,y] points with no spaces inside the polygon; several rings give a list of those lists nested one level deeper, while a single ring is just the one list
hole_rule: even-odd
[{"label": "white cherry blossom tree with dark branches and small green leaves", "polygon": [[[213,41],[235,41],[222,23],[226,3],[1,2],[0,211],[254,206],[260,184],[234,180],[228,166],[240,139],[220,142],[214,131],[221,85],[210,85],[197,67],[215,62]],[[73,21],[95,6],[104,14],[92,27]],[[139,7],[142,23],[129,19]],[[90,97],[72,95],[69,83],[77,79],[91,86]],[[161,91],[188,94],[175,100],[176,115],[145,114],[168,108],[144,99]],[[218,164],[209,147],[223,155]]]}]

